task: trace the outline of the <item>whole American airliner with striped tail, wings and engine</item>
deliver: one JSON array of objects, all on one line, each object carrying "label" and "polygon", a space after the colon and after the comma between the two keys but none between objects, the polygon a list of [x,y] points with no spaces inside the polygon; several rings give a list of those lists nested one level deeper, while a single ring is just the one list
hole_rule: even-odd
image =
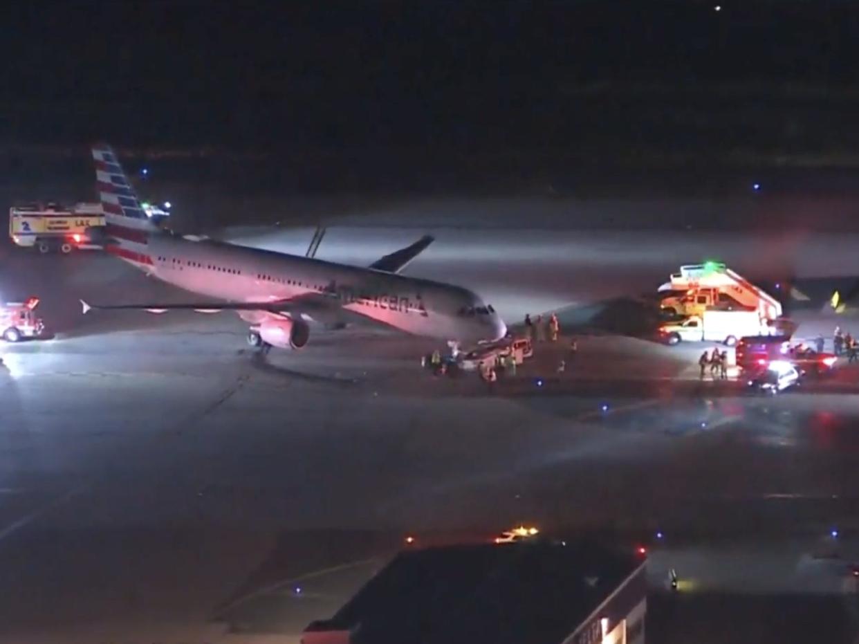
[{"label": "whole American airliner with striped tail, wings and engine", "polygon": [[151,276],[220,302],[89,305],[90,309],[235,311],[251,325],[253,346],[301,349],[308,320],[327,325],[371,322],[450,343],[497,340],[507,327],[491,306],[468,289],[399,275],[430,246],[426,236],[369,267],[335,264],[192,240],[157,228],[143,208],[113,150],[93,149],[106,219],[105,250]]}]

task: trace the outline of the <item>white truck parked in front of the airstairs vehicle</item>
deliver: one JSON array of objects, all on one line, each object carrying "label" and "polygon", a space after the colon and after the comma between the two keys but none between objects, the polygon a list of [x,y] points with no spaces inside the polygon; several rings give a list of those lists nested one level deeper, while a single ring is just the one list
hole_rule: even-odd
[{"label": "white truck parked in front of the airstairs vehicle", "polygon": [[757,311],[704,311],[678,322],[659,327],[668,344],[683,342],[717,342],[733,347],[740,337],[769,336],[777,331]]}]

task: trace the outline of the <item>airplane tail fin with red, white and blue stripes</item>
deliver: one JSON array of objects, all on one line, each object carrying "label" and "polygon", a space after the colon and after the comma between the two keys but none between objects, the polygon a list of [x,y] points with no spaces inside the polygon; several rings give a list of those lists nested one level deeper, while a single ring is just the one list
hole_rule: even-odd
[{"label": "airplane tail fin with red, white and blue stripes", "polygon": [[158,228],[146,216],[113,149],[105,144],[94,145],[93,160],[107,237],[111,240],[105,250],[141,268],[151,266],[149,234]]}]

